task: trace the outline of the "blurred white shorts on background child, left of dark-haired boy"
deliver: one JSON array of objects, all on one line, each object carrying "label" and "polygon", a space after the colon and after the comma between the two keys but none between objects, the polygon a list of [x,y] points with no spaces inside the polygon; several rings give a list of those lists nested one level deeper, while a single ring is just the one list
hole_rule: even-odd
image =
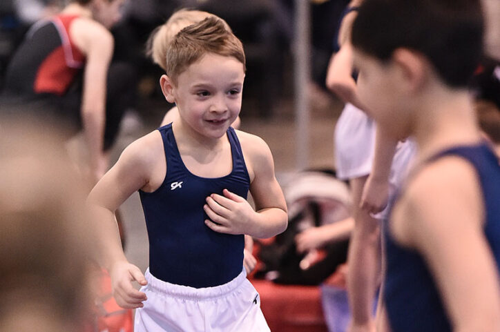
[{"label": "blurred white shorts on background child, left of dark-haired boy", "polygon": [[375,153],[375,123],[363,110],[345,104],[334,135],[336,175],[348,180],[372,172]]}]

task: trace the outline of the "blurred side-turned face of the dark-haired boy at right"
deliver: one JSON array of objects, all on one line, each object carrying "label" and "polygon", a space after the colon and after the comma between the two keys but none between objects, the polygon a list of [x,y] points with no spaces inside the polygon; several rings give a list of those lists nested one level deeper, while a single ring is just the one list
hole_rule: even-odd
[{"label": "blurred side-turned face of the dark-haired boy at right", "polygon": [[356,49],[354,63],[358,69],[358,95],[369,108],[369,116],[393,137],[409,136],[410,118],[398,66],[393,61],[385,63]]}]

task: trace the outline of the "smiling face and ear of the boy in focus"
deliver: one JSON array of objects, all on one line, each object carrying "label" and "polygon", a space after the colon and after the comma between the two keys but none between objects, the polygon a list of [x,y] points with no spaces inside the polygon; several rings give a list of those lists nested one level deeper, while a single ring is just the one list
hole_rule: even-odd
[{"label": "smiling face and ear of the boy in focus", "polygon": [[[170,80],[163,81],[169,84]],[[234,57],[207,53],[164,88],[185,123],[212,138],[225,135],[241,109],[243,64]]]}]

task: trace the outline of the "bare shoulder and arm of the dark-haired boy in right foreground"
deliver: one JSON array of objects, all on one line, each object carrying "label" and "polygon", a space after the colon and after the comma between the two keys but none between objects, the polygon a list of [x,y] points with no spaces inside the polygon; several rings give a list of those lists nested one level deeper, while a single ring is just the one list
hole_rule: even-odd
[{"label": "bare shoulder and arm of the dark-haired boy in right foreground", "polygon": [[483,232],[485,211],[472,165],[446,157],[427,166],[398,210],[392,233],[425,258],[454,331],[500,331],[500,279]]}]

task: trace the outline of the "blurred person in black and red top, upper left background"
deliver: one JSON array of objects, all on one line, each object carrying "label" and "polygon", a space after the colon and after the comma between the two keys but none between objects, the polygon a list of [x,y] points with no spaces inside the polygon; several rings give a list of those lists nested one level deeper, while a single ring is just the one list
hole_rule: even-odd
[{"label": "blurred person in black and red top, upper left background", "polygon": [[[83,128],[93,182],[104,175],[109,150],[131,95],[127,66],[112,64],[110,29],[124,0],[73,0],[59,14],[37,21],[17,48],[6,71],[3,113],[50,115],[64,139]],[[52,126],[52,124],[50,124]]]}]

